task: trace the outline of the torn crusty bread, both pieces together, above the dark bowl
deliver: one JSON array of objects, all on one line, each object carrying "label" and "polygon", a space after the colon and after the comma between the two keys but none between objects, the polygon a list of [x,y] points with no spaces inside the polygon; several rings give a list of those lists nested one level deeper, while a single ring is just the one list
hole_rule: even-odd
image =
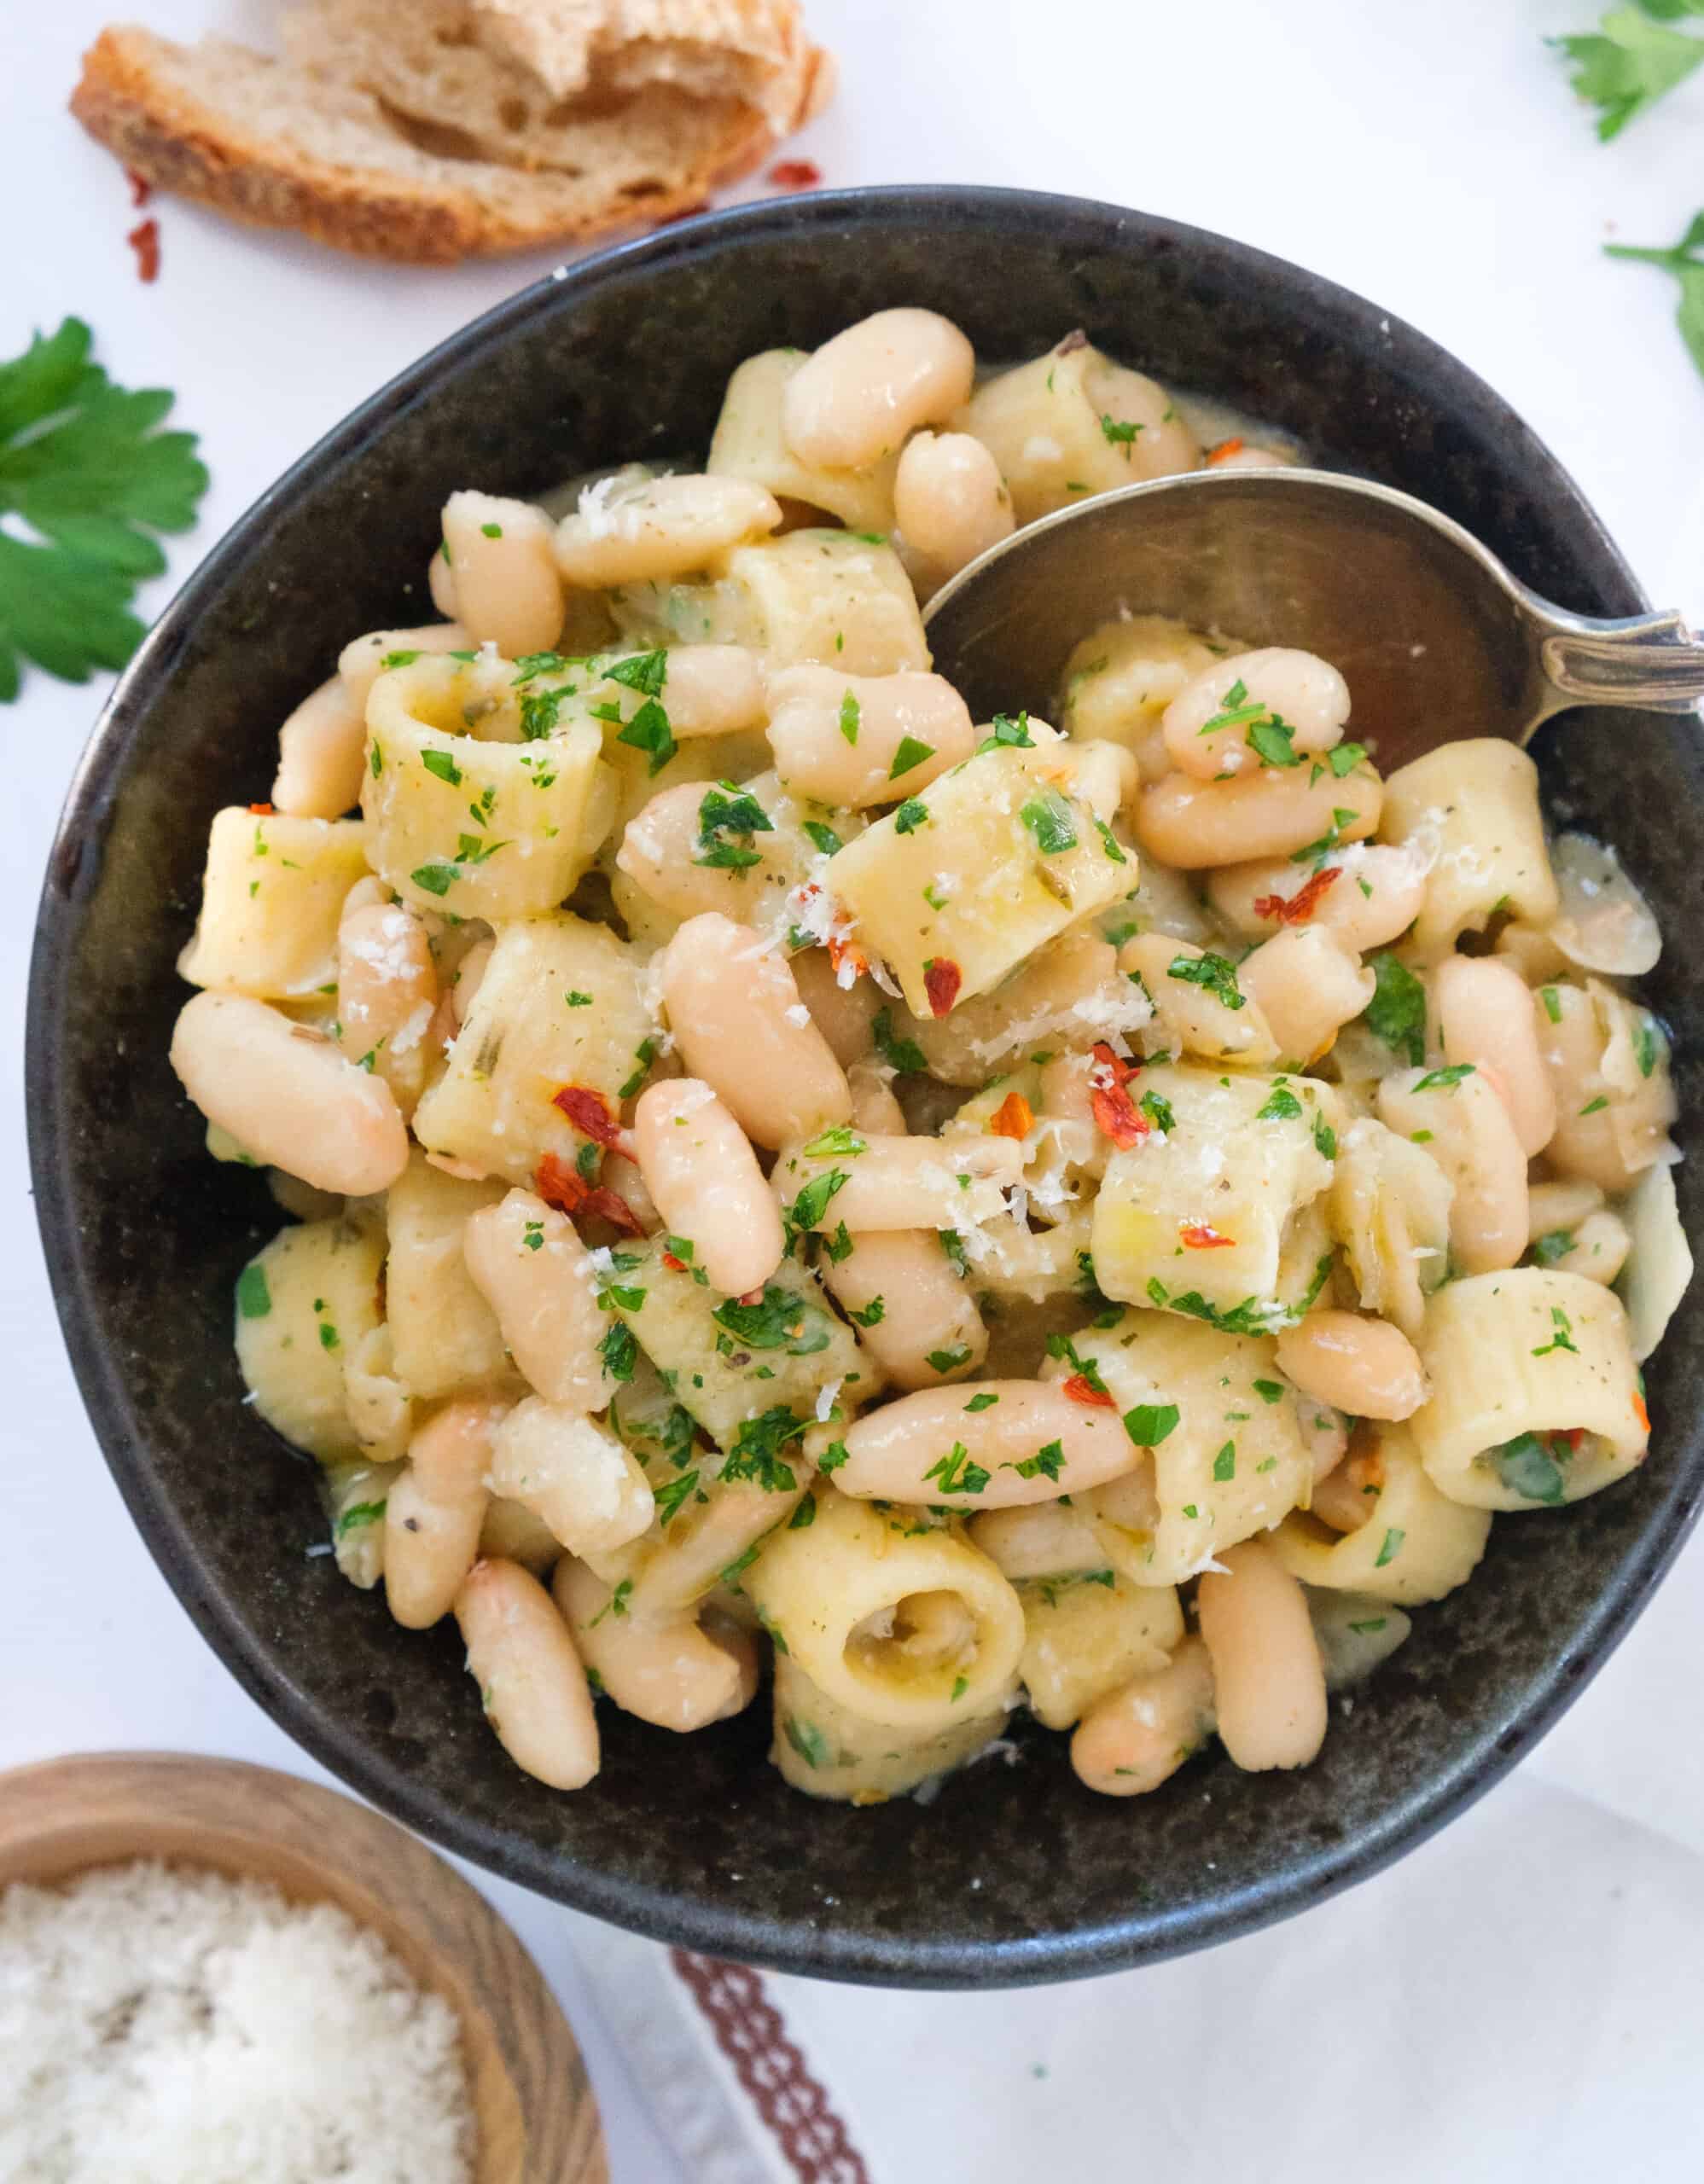
[{"label": "torn crusty bread, both pieces together, above the dark bowl", "polygon": [[103,31],[72,114],[162,190],[450,264],[695,212],[832,92],[797,0],[299,0],[282,41]]}]

